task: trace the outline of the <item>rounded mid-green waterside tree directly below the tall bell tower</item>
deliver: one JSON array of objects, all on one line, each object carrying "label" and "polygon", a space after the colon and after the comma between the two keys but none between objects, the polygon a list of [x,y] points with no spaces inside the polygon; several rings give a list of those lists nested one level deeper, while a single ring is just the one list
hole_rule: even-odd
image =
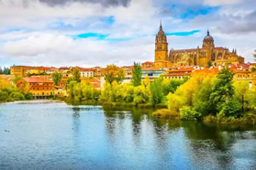
[{"label": "rounded mid-green waterside tree directly below the tall bell tower", "polygon": [[150,101],[152,104],[159,104],[163,101],[164,95],[161,89],[161,78],[156,78],[150,83]]}]

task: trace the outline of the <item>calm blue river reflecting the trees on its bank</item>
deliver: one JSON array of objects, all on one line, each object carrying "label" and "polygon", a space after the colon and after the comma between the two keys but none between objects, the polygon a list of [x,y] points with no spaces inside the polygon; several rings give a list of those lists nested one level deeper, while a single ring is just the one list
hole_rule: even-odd
[{"label": "calm blue river reflecting the trees on its bank", "polygon": [[0,104],[0,169],[256,169],[255,127],[160,121],[149,112]]}]

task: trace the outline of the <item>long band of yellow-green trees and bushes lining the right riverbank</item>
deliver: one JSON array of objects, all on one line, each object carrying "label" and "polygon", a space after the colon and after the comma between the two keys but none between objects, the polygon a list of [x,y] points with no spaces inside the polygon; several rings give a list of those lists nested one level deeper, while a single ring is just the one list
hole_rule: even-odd
[{"label": "long band of yellow-green trees and bushes lining the right riverbank", "polygon": [[141,69],[135,63],[132,81],[123,84],[120,78],[124,73],[120,71],[118,73],[115,65],[107,67],[107,79],[101,91],[89,83],[71,81],[67,101],[109,107],[165,107],[152,113],[164,119],[256,123],[256,89],[250,88],[248,81],[233,82],[234,73],[228,68],[219,71],[217,76],[200,73],[184,80],[160,77],[150,81],[146,75],[139,83]]}]

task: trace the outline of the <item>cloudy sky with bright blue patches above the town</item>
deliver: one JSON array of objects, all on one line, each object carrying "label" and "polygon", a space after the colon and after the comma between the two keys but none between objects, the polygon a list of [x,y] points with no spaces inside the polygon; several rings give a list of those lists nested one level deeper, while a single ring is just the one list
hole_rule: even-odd
[{"label": "cloudy sky with bright blue patches above the town", "polygon": [[253,62],[255,0],[0,0],[0,66],[130,66],[154,60],[162,23],[169,49],[216,47]]}]

